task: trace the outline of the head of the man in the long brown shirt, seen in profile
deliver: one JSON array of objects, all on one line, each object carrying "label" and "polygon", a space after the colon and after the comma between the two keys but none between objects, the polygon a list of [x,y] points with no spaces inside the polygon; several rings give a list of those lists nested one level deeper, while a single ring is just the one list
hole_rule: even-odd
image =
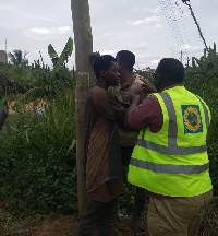
[{"label": "head of the man in the long brown shirt, seen in profile", "polygon": [[120,82],[120,73],[117,60],[110,55],[102,55],[95,59],[94,71],[96,79],[104,80],[108,86],[117,86]]}]

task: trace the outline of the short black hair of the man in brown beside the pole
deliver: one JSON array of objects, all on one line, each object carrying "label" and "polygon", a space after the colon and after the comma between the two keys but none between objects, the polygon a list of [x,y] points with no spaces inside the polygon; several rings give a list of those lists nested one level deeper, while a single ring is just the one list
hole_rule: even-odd
[{"label": "short black hair of the man in brown beside the pole", "polygon": [[96,74],[96,79],[98,79],[101,70],[110,69],[112,61],[117,61],[117,60],[111,55],[102,55],[102,56],[97,57],[94,60],[93,67],[94,67],[94,71]]}]

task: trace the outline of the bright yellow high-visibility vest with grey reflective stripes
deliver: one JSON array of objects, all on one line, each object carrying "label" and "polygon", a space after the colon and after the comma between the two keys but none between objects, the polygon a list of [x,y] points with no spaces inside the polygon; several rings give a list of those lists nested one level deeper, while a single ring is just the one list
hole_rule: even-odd
[{"label": "bright yellow high-visibility vest with grey reflective stripes", "polygon": [[128,180],[162,196],[193,197],[209,191],[209,108],[184,86],[153,95],[160,104],[164,125],[158,133],[148,127],[140,131]]}]

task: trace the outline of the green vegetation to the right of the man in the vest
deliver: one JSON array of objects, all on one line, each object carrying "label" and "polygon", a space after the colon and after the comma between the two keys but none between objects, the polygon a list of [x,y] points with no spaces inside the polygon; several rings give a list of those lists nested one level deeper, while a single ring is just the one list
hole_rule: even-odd
[{"label": "green vegetation to the right of the man in the vest", "polygon": [[[217,59],[218,64],[218,59]],[[197,68],[198,69],[198,68]],[[198,69],[199,70],[199,69]],[[209,155],[209,173],[214,187],[214,194],[218,196],[218,70],[216,67],[207,69],[205,73],[195,68],[186,68],[184,85],[194,94],[201,96],[211,113],[211,122],[207,134]]]}]

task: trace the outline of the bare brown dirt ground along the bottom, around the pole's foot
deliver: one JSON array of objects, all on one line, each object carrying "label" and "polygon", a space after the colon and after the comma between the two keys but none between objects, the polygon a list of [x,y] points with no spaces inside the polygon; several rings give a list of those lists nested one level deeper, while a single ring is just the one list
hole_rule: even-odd
[{"label": "bare brown dirt ground along the bottom, around the pole's foot", "polygon": [[[131,217],[131,216],[130,216]],[[0,236],[77,236],[80,219],[65,215],[45,220],[15,220],[0,211]],[[133,236],[132,220],[116,219],[112,236]]]}]

